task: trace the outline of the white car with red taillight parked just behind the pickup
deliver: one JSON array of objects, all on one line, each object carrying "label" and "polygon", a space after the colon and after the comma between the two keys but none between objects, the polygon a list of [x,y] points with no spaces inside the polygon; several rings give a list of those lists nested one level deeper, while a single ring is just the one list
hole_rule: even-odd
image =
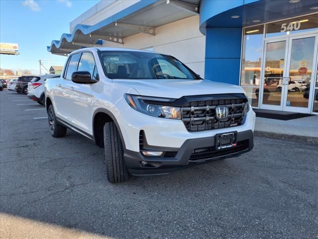
[{"label": "white car with red taillight parked just behind the pickup", "polygon": [[28,83],[28,98],[40,105],[45,105],[44,82],[49,78],[60,77],[60,75],[36,76]]}]

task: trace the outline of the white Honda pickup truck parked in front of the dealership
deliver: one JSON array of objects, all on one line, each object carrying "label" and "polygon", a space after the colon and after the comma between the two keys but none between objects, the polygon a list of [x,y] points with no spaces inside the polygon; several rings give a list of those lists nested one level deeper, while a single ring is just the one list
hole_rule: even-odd
[{"label": "white Honda pickup truck parked in front of the dealership", "polygon": [[45,82],[49,129],[104,147],[107,178],[165,174],[253,148],[255,113],[239,86],[203,80],[176,58],[124,48],[72,52]]}]

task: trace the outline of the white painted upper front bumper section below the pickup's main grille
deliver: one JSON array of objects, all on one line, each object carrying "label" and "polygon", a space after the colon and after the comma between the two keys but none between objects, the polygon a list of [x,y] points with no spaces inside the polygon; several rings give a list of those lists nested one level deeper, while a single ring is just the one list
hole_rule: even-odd
[{"label": "white painted upper front bumper section below the pickup's main grille", "polygon": [[149,145],[164,148],[180,148],[187,139],[214,137],[215,134],[231,131],[254,131],[255,113],[250,109],[245,122],[239,126],[199,132],[187,131],[182,120],[147,116],[130,107],[117,117],[117,122],[122,133],[125,148],[139,152],[139,135],[141,130],[145,132]]}]

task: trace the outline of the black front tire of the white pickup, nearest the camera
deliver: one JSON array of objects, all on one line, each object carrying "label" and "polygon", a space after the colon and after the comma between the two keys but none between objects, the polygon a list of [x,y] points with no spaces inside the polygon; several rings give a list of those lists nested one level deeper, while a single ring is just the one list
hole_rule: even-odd
[{"label": "black front tire of the white pickup, nearest the camera", "polygon": [[106,122],[104,125],[104,151],[108,181],[120,183],[128,180],[123,145],[114,122]]}]

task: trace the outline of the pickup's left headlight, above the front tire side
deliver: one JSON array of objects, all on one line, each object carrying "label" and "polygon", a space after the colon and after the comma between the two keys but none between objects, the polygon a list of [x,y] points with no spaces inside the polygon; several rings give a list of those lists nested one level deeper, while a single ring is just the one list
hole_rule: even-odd
[{"label": "pickup's left headlight, above the front tire side", "polygon": [[[133,109],[146,115],[166,119],[181,119],[181,108],[161,105],[164,104],[164,102],[171,102],[171,99],[142,97],[129,94],[125,94],[125,99]],[[154,101],[155,103],[153,103]],[[158,101],[158,104],[156,101]]]}]

